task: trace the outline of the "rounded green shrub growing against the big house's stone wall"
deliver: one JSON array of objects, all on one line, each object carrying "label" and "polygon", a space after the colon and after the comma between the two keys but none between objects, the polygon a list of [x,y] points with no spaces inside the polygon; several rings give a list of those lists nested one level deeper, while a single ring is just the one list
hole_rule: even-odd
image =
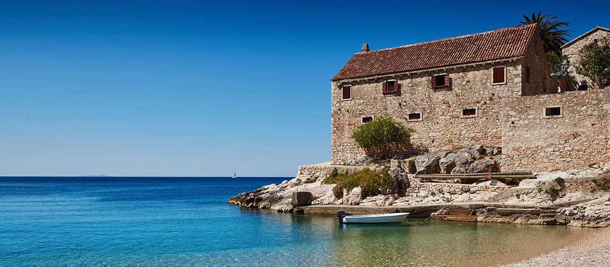
[{"label": "rounded green shrub growing against the big house's stone wall", "polygon": [[358,126],[351,138],[368,155],[390,158],[396,151],[406,150],[405,146],[414,132],[392,118],[378,118]]}]

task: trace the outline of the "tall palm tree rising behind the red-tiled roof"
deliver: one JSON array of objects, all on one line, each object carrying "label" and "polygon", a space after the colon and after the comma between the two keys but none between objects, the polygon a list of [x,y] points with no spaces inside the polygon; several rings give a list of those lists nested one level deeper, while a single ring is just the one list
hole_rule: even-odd
[{"label": "tall palm tree rising behind the red-tiled roof", "polygon": [[525,21],[519,21],[521,24],[538,24],[538,32],[540,32],[540,38],[542,38],[542,45],[544,46],[545,52],[556,52],[561,55],[561,46],[567,42],[568,36],[572,36],[573,30],[561,30],[560,27],[569,26],[570,23],[567,21],[554,21],[557,19],[556,16],[550,16],[548,14],[540,15],[541,12],[532,13],[531,18],[523,15]]}]

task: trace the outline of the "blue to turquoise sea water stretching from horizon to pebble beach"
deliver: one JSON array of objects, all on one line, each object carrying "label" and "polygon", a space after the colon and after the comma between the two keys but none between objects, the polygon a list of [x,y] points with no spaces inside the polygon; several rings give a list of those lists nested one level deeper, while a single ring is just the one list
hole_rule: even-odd
[{"label": "blue to turquoise sea water stretching from horizon to pebble beach", "polygon": [[[283,178],[0,177],[0,266],[467,266],[590,229],[243,209],[229,197]],[[473,262],[474,260],[474,262]]]}]

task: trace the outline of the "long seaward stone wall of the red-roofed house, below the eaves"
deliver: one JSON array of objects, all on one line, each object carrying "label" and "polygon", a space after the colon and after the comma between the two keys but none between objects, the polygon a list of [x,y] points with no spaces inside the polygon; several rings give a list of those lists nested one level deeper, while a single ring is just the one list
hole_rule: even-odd
[{"label": "long seaward stone wall of the red-roofed house, below the eaves", "polygon": [[[456,146],[501,144],[502,101],[522,94],[521,62],[504,61],[485,65],[442,69],[421,73],[342,80],[332,83],[332,163],[344,164],[364,157],[364,151],[350,138],[363,116],[391,116],[411,127],[413,149],[440,151]],[[492,68],[506,66],[506,83],[492,85]],[[447,73],[450,90],[431,88],[434,74]],[[382,94],[382,82],[395,79],[400,94]],[[342,101],[341,88],[351,85],[352,98]],[[476,108],[477,115],[464,118],[463,108]],[[409,113],[422,119],[408,121]]]}]

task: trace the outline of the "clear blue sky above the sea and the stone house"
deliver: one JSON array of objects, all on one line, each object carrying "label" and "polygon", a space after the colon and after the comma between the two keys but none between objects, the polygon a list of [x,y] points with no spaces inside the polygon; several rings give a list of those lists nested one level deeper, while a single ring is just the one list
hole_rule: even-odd
[{"label": "clear blue sky above the sea and the stone house", "polygon": [[294,176],[330,160],[329,79],[362,43],[610,27],[610,2],[435,3],[1,2],[0,176]]}]

